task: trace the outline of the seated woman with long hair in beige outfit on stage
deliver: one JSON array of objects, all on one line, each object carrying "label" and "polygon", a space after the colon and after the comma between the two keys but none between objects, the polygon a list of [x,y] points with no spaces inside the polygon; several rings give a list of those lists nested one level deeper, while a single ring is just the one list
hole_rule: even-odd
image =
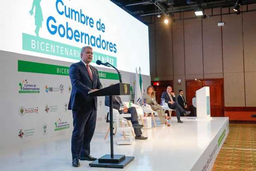
[{"label": "seated woman with long hair in beige outfit on stage", "polygon": [[146,98],[146,103],[151,106],[152,110],[158,113],[161,124],[165,123],[167,126],[170,126],[170,124],[166,121],[166,119],[170,119],[171,117],[167,117],[161,105],[156,103],[156,94],[153,86],[147,87],[147,94],[145,98]]}]

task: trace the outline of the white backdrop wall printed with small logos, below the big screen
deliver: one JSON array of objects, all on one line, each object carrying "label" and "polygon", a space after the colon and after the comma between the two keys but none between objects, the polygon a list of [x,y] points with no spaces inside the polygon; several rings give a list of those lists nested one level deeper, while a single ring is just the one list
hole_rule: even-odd
[{"label": "white backdrop wall printed with small logos, below the big screen", "polygon": [[[2,73],[0,149],[12,145],[55,139],[59,136],[71,136],[73,130],[72,113],[70,110],[66,110],[70,97],[69,87],[71,86],[69,76],[20,72],[18,71],[18,60],[66,67],[69,67],[71,63],[6,51],[0,51],[0,56],[0,71]],[[29,66],[27,67],[26,69],[29,69]],[[135,66],[129,67],[135,71]],[[96,68],[99,71],[114,73],[114,70],[108,68]],[[134,84],[134,73],[122,71],[121,74],[123,82]],[[142,75],[142,80],[144,88],[146,88],[150,84],[150,76]],[[100,79],[100,81],[104,87],[119,82],[109,79]],[[20,92],[21,86],[24,87],[25,84],[31,84],[34,89],[39,89],[39,93]],[[129,101],[130,96],[122,96],[122,99]],[[107,129],[106,112],[103,106],[104,97],[99,97],[95,134]]]}]

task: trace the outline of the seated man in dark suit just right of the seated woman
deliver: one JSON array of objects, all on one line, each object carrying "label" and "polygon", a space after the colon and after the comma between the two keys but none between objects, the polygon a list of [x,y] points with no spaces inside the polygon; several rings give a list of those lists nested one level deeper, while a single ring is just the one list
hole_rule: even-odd
[{"label": "seated man in dark suit just right of the seated woman", "polygon": [[180,113],[184,113],[184,115],[189,115],[191,112],[184,110],[177,101],[175,101],[175,94],[173,92],[172,87],[168,86],[166,91],[162,93],[161,98],[165,99],[165,103],[168,104],[168,107],[175,110],[176,116],[178,119],[178,123],[183,123],[180,120]]}]

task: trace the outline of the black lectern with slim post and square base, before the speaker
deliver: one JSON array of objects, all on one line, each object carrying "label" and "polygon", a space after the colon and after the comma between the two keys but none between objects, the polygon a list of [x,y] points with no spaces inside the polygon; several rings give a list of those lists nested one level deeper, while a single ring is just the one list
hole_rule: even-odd
[{"label": "black lectern with slim post and square base, before the speaker", "polygon": [[109,117],[110,117],[110,155],[104,155],[99,159],[91,162],[90,167],[110,167],[110,168],[124,168],[127,164],[133,161],[135,157],[125,155],[114,155],[113,145],[113,103],[112,96],[130,95],[130,84],[118,83],[112,86],[94,91],[89,96],[109,96]]}]

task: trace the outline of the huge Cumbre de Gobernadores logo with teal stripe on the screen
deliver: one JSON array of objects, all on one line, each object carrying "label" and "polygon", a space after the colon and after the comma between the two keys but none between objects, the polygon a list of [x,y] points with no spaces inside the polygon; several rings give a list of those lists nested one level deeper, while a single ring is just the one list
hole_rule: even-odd
[{"label": "huge Cumbre de Gobernadores logo with teal stripe on the screen", "polygon": [[[35,31],[31,34],[22,33],[23,50],[80,60],[80,47],[78,48],[72,45],[76,42],[81,42],[81,46],[89,45],[107,53],[117,53],[118,48],[114,42],[115,40],[106,40],[104,38],[104,34],[107,33],[106,30],[109,27],[102,19],[93,17],[88,18],[84,8],[76,9],[73,6],[69,6],[68,3],[66,4],[64,0],[49,1],[49,3],[52,3],[51,5],[55,7],[54,11],[43,9],[42,7],[44,6],[41,6],[40,2],[41,0],[33,0],[30,11],[26,11],[27,16],[34,16],[29,17],[28,19],[34,21],[34,25],[30,27],[33,27],[33,30]],[[64,9],[66,13],[66,8],[73,10],[69,16],[64,14]],[[74,19],[73,15],[75,15]],[[58,17],[62,18],[58,20]],[[41,31],[42,29],[44,29],[44,33],[47,33],[43,35]],[[98,33],[97,35],[84,33],[84,29],[94,29]],[[77,35],[76,33],[79,34]],[[88,36],[85,36],[84,38],[83,35],[85,34]],[[59,39],[59,41],[56,42],[45,39],[50,36]],[[61,42],[63,39],[69,40],[69,45],[63,44]],[[114,56],[97,52],[94,52],[94,54],[94,63],[99,59],[103,62],[109,62],[113,66],[116,66],[117,64],[117,59]]]}]

